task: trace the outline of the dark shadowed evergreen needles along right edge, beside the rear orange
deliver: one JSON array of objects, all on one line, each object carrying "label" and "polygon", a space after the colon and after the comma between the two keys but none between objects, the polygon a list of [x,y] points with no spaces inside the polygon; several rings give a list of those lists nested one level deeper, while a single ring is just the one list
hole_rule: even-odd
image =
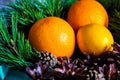
[{"label": "dark shadowed evergreen needles along right edge, beside the rear orange", "polygon": [[109,15],[109,30],[114,40],[120,43],[120,0],[99,0]]}]

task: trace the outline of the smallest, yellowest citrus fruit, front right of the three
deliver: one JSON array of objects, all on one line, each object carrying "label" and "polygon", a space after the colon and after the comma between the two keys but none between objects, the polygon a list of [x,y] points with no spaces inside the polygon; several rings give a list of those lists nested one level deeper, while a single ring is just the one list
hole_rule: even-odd
[{"label": "smallest, yellowest citrus fruit, front right of the three", "polygon": [[106,51],[112,51],[113,43],[111,32],[100,24],[88,24],[77,32],[77,44],[83,54],[100,56]]}]

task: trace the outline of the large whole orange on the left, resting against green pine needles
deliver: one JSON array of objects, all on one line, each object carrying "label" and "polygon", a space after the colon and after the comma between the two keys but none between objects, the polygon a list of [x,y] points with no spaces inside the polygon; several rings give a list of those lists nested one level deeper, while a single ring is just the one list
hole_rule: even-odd
[{"label": "large whole orange on the left, resting against green pine needles", "polygon": [[46,17],[37,21],[29,31],[29,41],[38,51],[48,51],[56,57],[71,57],[75,47],[75,34],[65,20]]}]

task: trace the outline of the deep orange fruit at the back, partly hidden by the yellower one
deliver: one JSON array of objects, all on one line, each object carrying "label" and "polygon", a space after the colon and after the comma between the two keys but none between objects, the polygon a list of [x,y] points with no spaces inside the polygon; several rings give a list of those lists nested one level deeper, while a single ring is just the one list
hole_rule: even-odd
[{"label": "deep orange fruit at the back, partly hidden by the yellower one", "polygon": [[80,0],[73,3],[70,7],[67,21],[76,32],[79,27],[84,27],[91,23],[108,27],[108,14],[98,1]]}]

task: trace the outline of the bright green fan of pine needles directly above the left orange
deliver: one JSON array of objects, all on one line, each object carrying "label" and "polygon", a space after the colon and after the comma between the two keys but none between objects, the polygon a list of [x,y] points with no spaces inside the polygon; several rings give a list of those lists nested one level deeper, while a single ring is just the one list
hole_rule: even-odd
[{"label": "bright green fan of pine needles directly above the left orange", "polygon": [[63,9],[63,0],[43,0],[40,7],[44,10],[44,14],[47,16],[60,17]]}]

